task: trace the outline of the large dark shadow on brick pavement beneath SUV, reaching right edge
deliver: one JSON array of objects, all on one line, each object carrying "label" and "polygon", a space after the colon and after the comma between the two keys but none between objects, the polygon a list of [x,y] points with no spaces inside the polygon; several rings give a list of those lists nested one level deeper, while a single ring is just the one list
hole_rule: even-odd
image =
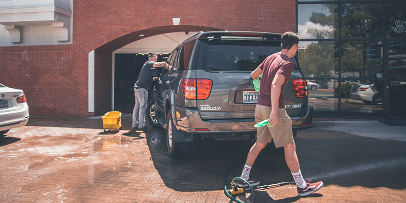
[{"label": "large dark shadow on brick pavement beneath SUV, reaching right edge", "polygon": [[[165,185],[176,191],[223,190],[224,176],[230,181],[241,175],[253,144],[210,139],[193,142],[187,158],[174,160],[167,155],[164,130],[154,136],[147,133],[146,137],[156,170]],[[151,143],[151,139],[160,142]],[[295,143],[305,179],[343,187],[406,188],[406,148],[403,142],[359,137],[316,127],[312,132],[298,132]],[[293,181],[283,153],[269,156],[264,149],[258,157],[251,177],[259,179],[261,185]],[[322,193],[323,190],[314,195],[317,197]]]}]

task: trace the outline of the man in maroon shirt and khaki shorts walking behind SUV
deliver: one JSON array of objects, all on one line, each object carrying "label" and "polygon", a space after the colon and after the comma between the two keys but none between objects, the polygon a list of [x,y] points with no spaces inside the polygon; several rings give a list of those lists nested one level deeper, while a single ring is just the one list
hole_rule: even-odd
[{"label": "man in maroon shirt and khaki shorts walking behind SUV", "polygon": [[[262,74],[259,87],[259,99],[255,108],[255,121],[269,119],[269,126],[257,128],[257,141],[251,147],[241,178],[247,180],[251,186],[259,185],[259,181],[250,179],[251,167],[259,152],[272,140],[276,147],[284,147],[285,160],[296,182],[299,196],[306,196],[316,192],[323,186],[323,182],[311,183],[301,176],[296,146],[293,140],[292,120],[285,111],[283,92],[286,83],[294,69],[290,59],[297,52],[299,36],[293,32],[285,32],[281,38],[282,51],[266,57],[266,59],[251,73],[252,79]],[[239,187],[248,185],[239,180]]]}]

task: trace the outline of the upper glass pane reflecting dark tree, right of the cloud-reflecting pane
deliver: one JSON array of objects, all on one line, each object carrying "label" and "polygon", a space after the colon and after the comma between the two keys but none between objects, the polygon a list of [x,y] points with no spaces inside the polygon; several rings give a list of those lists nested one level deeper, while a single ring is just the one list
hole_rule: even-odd
[{"label": "upper glass pane reflecting dark tree, right of the cloud-reflecting pane", "polygon": [[342,4],[343,39],[382,38],[382,4]]}]

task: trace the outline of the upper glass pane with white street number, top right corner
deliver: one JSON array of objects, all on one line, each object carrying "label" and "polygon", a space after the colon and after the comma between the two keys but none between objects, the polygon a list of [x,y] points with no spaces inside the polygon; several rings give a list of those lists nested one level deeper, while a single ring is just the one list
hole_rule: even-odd
[{"label": "upper glass pane with white street number, top right corner", "polygon": [[386,37],[406,38],[406,2],[386,4]]}]

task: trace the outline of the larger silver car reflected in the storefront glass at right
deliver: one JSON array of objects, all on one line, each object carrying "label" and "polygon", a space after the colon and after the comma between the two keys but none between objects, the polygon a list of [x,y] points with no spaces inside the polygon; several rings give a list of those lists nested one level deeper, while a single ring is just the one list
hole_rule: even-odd
[{"label": "larger silver car reflected in the storefront glass at right", "polygon": [[350,98],[362,100],[365,104],[382,105],[382,93],[376,89],[375,82],[352,85]]}]

